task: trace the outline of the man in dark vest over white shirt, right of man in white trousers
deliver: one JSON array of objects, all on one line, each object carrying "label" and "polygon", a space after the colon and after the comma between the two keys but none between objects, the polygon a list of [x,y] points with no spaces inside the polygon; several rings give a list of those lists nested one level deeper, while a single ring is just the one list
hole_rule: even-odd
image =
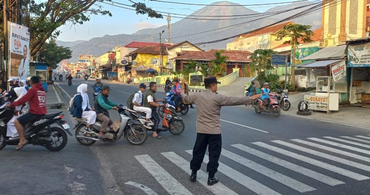
[{"label": "man in dark vest over white shirt, right of man in white trousers", "polygon": [[155,96],[156,91],[157,91],[157,83],[150,82],[149,90],[147,90],[144,96],[144,106],[152,109],[152,119],[154,122],[152,138],[161,139],[162,137],[158,135],[158,132],[163,129],[158,128],[160,118],[157,113],[157,107],[163,106],[163,104],[159,104],[157,102],[162,102],[163,100],[158,100],[158,101],[156,100],[156,96]]}]

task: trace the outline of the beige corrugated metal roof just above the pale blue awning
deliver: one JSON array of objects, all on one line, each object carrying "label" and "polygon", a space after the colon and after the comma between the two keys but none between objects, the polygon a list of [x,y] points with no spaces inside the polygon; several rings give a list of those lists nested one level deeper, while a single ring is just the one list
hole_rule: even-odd
[{"label": "beige corrugated metal roof just above the pale blue awning", "polygon": [[335,60],[343,59],[347,56],[346,45],[340,45],[337,47],[326,47],[318,52],[312,53],[302,60]]}]

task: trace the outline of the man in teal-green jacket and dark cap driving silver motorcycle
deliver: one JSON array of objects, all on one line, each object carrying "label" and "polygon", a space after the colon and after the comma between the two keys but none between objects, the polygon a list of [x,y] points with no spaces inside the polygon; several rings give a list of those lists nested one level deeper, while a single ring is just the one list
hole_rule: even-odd
[{"label": "man in teal-green jacket and dark cap driving silver motorcycle", "polygon": [[109,112],[108,110],[114,109],[118,110],[117,104],[110,102],[108,100],[108,95],[110,91],[110,87],[108,85],[103,85],[101,88],[102,92],[98,95],[97,99],[95,100],[95,111],[97,112],[97,119],[102,122],[102,126],[100,127],[99,138],[105,138],[104,132],[108,125],[112,125],[112,120],[109,119]]}]

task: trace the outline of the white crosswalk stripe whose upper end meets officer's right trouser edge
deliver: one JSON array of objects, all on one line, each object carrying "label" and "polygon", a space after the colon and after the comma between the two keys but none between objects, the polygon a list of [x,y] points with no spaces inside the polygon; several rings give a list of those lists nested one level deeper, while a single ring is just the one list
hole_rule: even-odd
[{"label": "white crosswalk stripe whose upper end meets officer's right trouser edge", "polygon": [[311,186],[308,186],[306,184],[303,184],[297,180],[294,180],[292,178],[289,178],[287,177],[286,175],[284,174],[281,174],[279,172],[276,172],[274,170],[271,170],[265,166],[262,166],[258,163],[255,163],[249,159],[246,159],[244,157],[241,157],[240,155],[237,155],[235,153],[232,153],[228,150],[225,150],[223,149],[221,151],[221,155],[224,155],[225,157],[239,163],[239,164],[242,164],[250,169],[253,169],[254,171],[256,172],[259,172],[263,175],[266,175],[267,177],[277,181],[277,182],[280,182],[292,189],[295,189],[299,192],[307,192],[307,191],[313,191],[313,190],[316,190],[316,188],[313,188]]}]

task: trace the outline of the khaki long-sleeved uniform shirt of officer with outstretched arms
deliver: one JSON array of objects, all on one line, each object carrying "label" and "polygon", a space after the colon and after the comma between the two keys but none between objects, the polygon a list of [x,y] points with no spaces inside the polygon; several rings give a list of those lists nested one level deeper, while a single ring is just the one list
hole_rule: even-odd
[{"label": "khaki long-sleeved uniform shirt of officer with outstretched arms", "polygon": [[220,110],[221,106],[235,106],[251,104],[251,97],[228,97],[213,93],[210,89],[187,95],[181,93],[184,101],[197,105],[198,119],[196,131],[198,133],[221,134]]}]

